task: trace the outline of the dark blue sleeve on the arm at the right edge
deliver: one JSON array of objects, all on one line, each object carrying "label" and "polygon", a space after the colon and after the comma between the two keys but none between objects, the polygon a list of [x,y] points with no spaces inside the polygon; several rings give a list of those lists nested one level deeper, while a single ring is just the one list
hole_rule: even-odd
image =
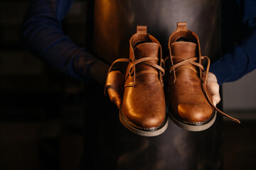
[{"label": "dark blue sleeve on the arm at the right edge", "polygon": [[210,66],[220,85],[238,80],[256,68],[256,1],[238,1],[238,4],[243,11],[244,39]]}]

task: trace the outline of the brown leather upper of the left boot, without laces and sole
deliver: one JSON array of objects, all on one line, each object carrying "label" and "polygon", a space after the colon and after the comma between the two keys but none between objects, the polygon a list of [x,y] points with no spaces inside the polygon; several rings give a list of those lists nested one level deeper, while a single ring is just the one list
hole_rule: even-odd
[{"label": "brown leather upper of the left boot, without laces and sole", "polygon": [[[137,45],[138,42],[142,44]],[[152,64],[161,63],[161,45],[154,38],[151,39],[146,32],[141,31],[132,36],[130,45],[129,58],[133,61],[145,57],[152,57],[153,60],[141,62],[134,67],[132,67],[133,62],[129,63],[124,85],[122,114],[134,127],[156,128],[164,123],[166,118],[164,89],[159,80],[159,70],[152,67]],[[130,67],[132,74],[129,71]]]}]

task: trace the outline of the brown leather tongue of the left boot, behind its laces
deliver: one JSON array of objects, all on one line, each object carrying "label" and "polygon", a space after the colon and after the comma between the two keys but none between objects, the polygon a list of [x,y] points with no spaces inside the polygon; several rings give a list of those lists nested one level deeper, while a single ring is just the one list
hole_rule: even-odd
[{"label": "brown leather tongue of the left boot, behind its laces", "polygon": [[[155,42],[144,42],[143,44],[137,45],[137,47],[134,48],[135,60],[139,60],[140,58],[143,58],[143,57],[158,57],[159,47],[160,46]],[[149,70],[149,69],[155,70],[154,67],[151,67],[148,64],[144,64],[149,62],[154,62],[155,64],[158,63],[158,61],[156,60],[141,62],[136,65],[137,72],[142,70]]]}]

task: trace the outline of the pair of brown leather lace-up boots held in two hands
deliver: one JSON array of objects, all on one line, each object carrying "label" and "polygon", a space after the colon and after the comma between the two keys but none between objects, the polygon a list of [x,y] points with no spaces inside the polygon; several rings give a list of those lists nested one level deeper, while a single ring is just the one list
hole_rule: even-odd
[{"label": "pair of brown leather lace-up boots held in two hands", "polygon": [[[177,30],[171,34],[170,55],[165,60],[159,41],[146,33],[146,26],[137,26],[129,46],[129,59],[112,64],[129,62],[119,107],[119,119],[127,129],[142,136],[160,135],[168,126],[169,115],[181,128],[201,131],[213,125],[216,111],[225,115],[213,105],[206,86],[210,60],[201,56],[198,36],[186,28],[186,23],[178,23]],[[202,65],[204,59],[208,61],[206,70]],[[112,85],[108,82],[110,77],[105,92]]]}]

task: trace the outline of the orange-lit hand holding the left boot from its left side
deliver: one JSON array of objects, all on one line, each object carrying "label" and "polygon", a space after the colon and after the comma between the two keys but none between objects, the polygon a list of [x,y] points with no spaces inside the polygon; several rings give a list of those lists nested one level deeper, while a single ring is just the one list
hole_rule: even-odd
[{"label": "orange-lit hand holding the left boot from its left side", "polygon": [[122,97],[124,92],[124,77],[125,75],[118,71],[112,71],[107,75],[107,81],[105,85],[105,94],[110,96],[110,101],[115,103],[118,108],[122,103]]}]

